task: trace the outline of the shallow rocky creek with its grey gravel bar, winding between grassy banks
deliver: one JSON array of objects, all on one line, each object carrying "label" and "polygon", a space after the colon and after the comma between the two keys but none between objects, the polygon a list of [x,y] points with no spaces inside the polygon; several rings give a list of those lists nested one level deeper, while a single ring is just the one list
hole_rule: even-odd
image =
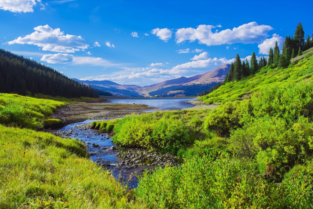
[{"label": "shallow rocky creek with its grey gravel bar, winding between grassy banks", "polygon": [[[90,159],[100,166],[108,168],[111,175],[122,184],[135,188],[138,184],[137,176],[140,176],[145,169],[154,170],[155,167],[164,167],[165,164],[179,165],[177,158],[170,154],[115,145],[107,133],[98,133],[88,128],[92,121],[95,120],[69,124],[58,129],[57,135],[77,138],[85,143]],[[110,149],[112,146],[116,149]]]}]

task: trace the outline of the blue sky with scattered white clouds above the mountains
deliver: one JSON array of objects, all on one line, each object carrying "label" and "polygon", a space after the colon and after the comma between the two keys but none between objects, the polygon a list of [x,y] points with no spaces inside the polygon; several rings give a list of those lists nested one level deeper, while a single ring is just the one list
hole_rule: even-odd
[{"label": "blue sky with scattered white clouds above the mountains", "polygon": [[0,0],[1,48],[71,78],[151,85],[266,56],[312,1]]}]

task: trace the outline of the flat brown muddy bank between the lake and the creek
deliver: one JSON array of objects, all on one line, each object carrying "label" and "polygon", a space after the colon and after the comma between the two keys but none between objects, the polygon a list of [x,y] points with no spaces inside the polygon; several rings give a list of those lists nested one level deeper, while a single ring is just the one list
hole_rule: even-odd
[{"label": "flat brown muddy bank between the lake and the creek", "polygon": [[[151,110],[144,104],[115,104],[115,103],[77,103],[57,109],[52,115],[53,118],[60,119],[62,124],[59,127],[85,120],[123,118],[129,114],[142,114],[143,110]],[[56,127],[57,128],[57,127]]]}]

